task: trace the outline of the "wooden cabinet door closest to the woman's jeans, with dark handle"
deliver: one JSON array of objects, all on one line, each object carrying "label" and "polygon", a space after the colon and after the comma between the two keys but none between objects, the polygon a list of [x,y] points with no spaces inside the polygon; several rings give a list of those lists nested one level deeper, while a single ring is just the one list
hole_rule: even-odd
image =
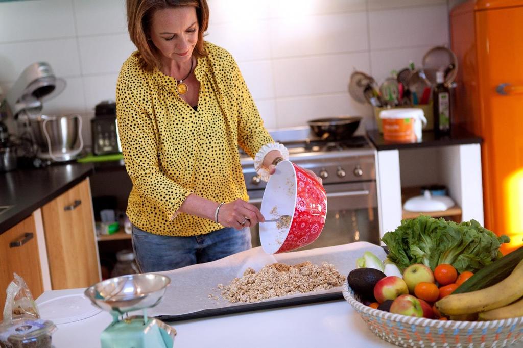
[{"label": "wooden cabinet door closest to the woman's jeans, with dark handle", "polygon": [[89,180],[44,205],[42,219],[53,290],[99,282]]}]

